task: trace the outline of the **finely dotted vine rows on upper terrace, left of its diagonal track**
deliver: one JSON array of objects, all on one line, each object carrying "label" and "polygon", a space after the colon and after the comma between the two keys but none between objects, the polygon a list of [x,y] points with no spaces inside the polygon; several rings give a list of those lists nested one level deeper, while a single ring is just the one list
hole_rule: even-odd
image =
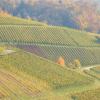
[{"label": "finely dotted vine rows on upper terrace, left of its diagonal track", "polygon": [[[68,35],[63,34],[63,30],[48,30],[49,27],[37,26],[1,26],[0,27],[0,41],[12,42],[18,44],[24,43],[41,43],[41,44],[75,44],[71,39],[66,40]],[[60,34],[59,34],[59,33]],[[59,35],[58,35],[59,34]],[[60,37],[61,35],[61,37]]]}]

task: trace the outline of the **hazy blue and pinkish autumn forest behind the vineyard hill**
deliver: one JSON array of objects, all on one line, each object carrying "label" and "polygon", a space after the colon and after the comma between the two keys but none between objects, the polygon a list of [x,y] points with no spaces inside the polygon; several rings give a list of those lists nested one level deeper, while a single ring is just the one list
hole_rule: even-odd
[{"label": "hazy blue and pinkish autumn forest behind the vineyard hill", "polygon": [[100,33],[98,0],[0,0],[0,10],[50,25]]}]

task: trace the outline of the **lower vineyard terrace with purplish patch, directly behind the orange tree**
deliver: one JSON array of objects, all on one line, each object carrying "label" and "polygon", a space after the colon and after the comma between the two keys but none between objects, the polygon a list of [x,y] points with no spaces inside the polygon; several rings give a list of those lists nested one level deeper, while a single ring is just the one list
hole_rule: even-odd
[{"label": "lower vineyard terrace with purplish patch, directly behind the orange tree", "polygon": [[63,57],[66,65],[79,59],[82,66],[100,64],[99,47],[68,47],[68,46],[47,46],[47,45],[18,45],[17,47],[38,56],[57,62],[59,57]]}]

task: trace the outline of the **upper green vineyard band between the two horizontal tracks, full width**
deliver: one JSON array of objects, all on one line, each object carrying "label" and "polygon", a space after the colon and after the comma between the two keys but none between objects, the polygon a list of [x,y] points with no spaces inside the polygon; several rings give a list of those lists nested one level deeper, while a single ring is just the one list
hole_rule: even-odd
[{"label": "upper green vineyard band between the two horizontal tracks, full width", "polygon": [[[73,36],[74,35],[74,36]],[[51,26],[0,26],[0,41],[17,44],[54,44],[67,46],[100,46],[96,38],[84,32]]]}]

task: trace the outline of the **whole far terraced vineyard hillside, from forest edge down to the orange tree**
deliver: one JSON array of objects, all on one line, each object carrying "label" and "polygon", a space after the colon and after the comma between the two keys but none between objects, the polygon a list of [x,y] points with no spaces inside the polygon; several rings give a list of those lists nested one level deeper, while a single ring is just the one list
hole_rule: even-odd
[{"label": "whole far terraced vineyard hillside, from forest edge down to the orange tree", "polygon": [[100,41],[97,35],[36,21],[27,23],[28,20],[10,18],[11,20],[5,17],[0,22],[1,43],[15,45],[53,62],[62,56],[67,65],[75,59],[79,59],[82,66],[100,64]]}]

